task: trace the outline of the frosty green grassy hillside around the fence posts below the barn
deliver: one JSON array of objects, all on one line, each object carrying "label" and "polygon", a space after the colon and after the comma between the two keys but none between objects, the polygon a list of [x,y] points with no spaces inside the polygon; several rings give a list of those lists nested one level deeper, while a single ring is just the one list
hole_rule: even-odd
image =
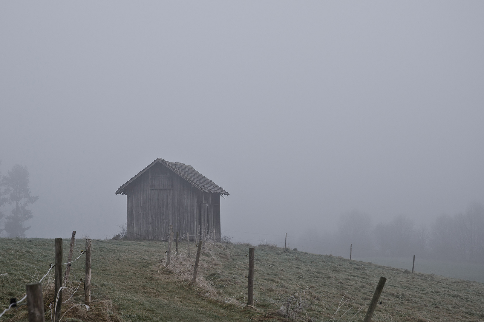
[{"label": "frosty green grassy hillside around the fence posts below the barn", "polygon": [[[77,243],[75,254],[84,240]],[[300,308],[297,321],[362,321],[380,276],[387,282],[372,321],[484,321],[482,283],[272,245],[256,247],[256,308],[245,308],[250,245],[206,243],[196,284],[190,282],[195,261],[191,246],[187,255],[182,243],[180,255],[172,255],[166,268],[164,242],[93,240],[92,309],[72,308],[62,321],[289,321],[283,315],[291,300]],[[66,238],[64,258],[68,248]],[[42,277],[53,258],[53,239],[0,238],[0,274],[8,273],[0,277],[1,310],[10,297],[23,297],[25,283]],[[80,287],[63,311],[82,302],[83,256],[73,263],[71,274],[70,291]],[[50,321],[52,280],[45,280],[43,288]],[[27,321],[25,306],[0,321]]]}]

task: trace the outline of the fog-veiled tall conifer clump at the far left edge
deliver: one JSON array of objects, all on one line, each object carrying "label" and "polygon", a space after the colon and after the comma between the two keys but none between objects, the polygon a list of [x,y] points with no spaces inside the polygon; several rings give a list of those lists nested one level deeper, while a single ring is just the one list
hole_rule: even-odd
[{"label": "fog-veiled tall conifer clump at the far left edge", "polygon": [[[1,162],[0,162],[1,164]],[[7,237],[26,237],[24,222],[33,217],[27,207],[39,196],[31,196],[29,171],[26,166],[16,164],[6,175],[0,172],[0,234]]]}]

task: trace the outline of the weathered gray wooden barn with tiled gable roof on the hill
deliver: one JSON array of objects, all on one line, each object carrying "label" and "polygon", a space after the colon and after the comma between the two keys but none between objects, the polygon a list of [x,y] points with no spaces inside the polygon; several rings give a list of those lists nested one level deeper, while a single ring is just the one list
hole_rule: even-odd
[{"label": "weathered gray wooden barn with tiled gable roof on the hill", "polygon": [[116,190],[119,194],[127,197],[128,238],[166,240],[171,224],[180,236],[214,228],[220,239],[220,196],[228,193],[190,165],[158,158]]}]

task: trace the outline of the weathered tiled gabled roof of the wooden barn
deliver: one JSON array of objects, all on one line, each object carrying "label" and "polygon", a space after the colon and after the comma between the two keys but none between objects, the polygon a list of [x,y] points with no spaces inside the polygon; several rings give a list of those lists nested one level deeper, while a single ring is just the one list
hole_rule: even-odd
[{"label": "weathered tiled gabled roof of the wooden barn", "polygon": [[151,164],[148,167],[141,170],[138,174],[136,174],[136,176],[134,176],[133,178],[128,180],[128,182],[124,183],[121,187],[119,187],[119,189],[116,190],[116,195],[119,195],[119,194],[126,195],[126,193],[128,192],[126,187],[156,163],[161,163],[162,165],[166,166],[166,168],[169,168],[170,170],[178,174],[181,178],[185,179],[186,181],[188,181],[190,184],[192,184],[194,187],[196,187],[198,190],[202,192],[215,193],[215,194],[228,196],[227,191],[225,191],[224,189],[216,185],[215,182],[213,182],[212,180],[203,176],[200,172],[195,170],[189,164],[184,164],[181,162],[169,162],[161,158],[158,158],[153,162],[151,162]]}]

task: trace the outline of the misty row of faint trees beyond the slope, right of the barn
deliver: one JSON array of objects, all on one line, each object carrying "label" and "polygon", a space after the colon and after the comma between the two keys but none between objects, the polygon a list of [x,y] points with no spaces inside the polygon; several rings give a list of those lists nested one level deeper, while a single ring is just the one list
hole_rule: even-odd
[{"label": "misty row of faint trees beyond the slope, right of the barn", "polygon": [[471,204],[454,216],[441,215],[427,228],[406,215],[373,224],[370,215],[353,211],[340,216],[340,243],[353,243],[364,255],[418,255],[446,260],[484,262],[484,207]]}]

